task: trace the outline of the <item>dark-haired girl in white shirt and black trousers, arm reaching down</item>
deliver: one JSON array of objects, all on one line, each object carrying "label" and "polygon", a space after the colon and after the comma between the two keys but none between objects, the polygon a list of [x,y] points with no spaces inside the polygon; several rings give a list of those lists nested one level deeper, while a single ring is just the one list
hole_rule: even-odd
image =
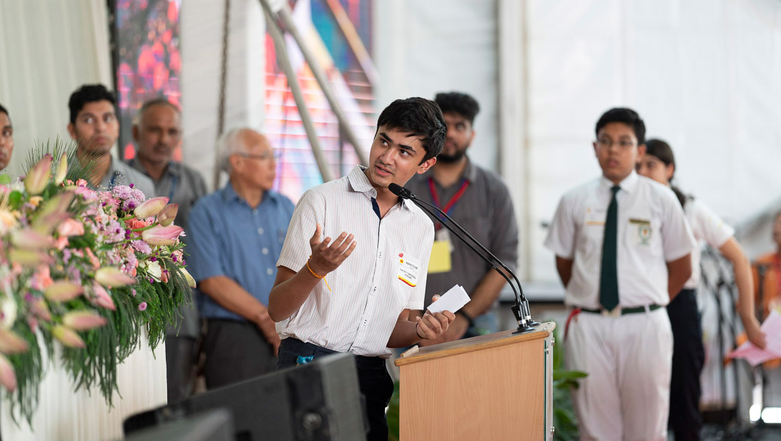
[{"label": "dark-haired girl in white shirt and black trousers, arm reaching down", "polygon": [[[648,140],[646,152],[637,165],[637,172],[658,183],[672,188],[676,193],[694,238],[718,249],[732,262],[735,283],[739,293],[738,311],[744,322],[749,340],[758,347],[765,347],[765,334],[759,329],[754,316],[754,281],[751,279],[751,262],[735,240],[735,230],[724,223],[705,204],[684,195],[670,184],[676,172],[676,159],[672,148],[663,140]],[[691,254],[692,275],[683,290],[667,305],[672,325],[672,382],[670,383],[669,426],[676,441],[700,439],[702,418],[700,415],[700,373],[705,358],[702,344],[700,313],[697,309],[697,286],[700,285],[700,247]]]}]

